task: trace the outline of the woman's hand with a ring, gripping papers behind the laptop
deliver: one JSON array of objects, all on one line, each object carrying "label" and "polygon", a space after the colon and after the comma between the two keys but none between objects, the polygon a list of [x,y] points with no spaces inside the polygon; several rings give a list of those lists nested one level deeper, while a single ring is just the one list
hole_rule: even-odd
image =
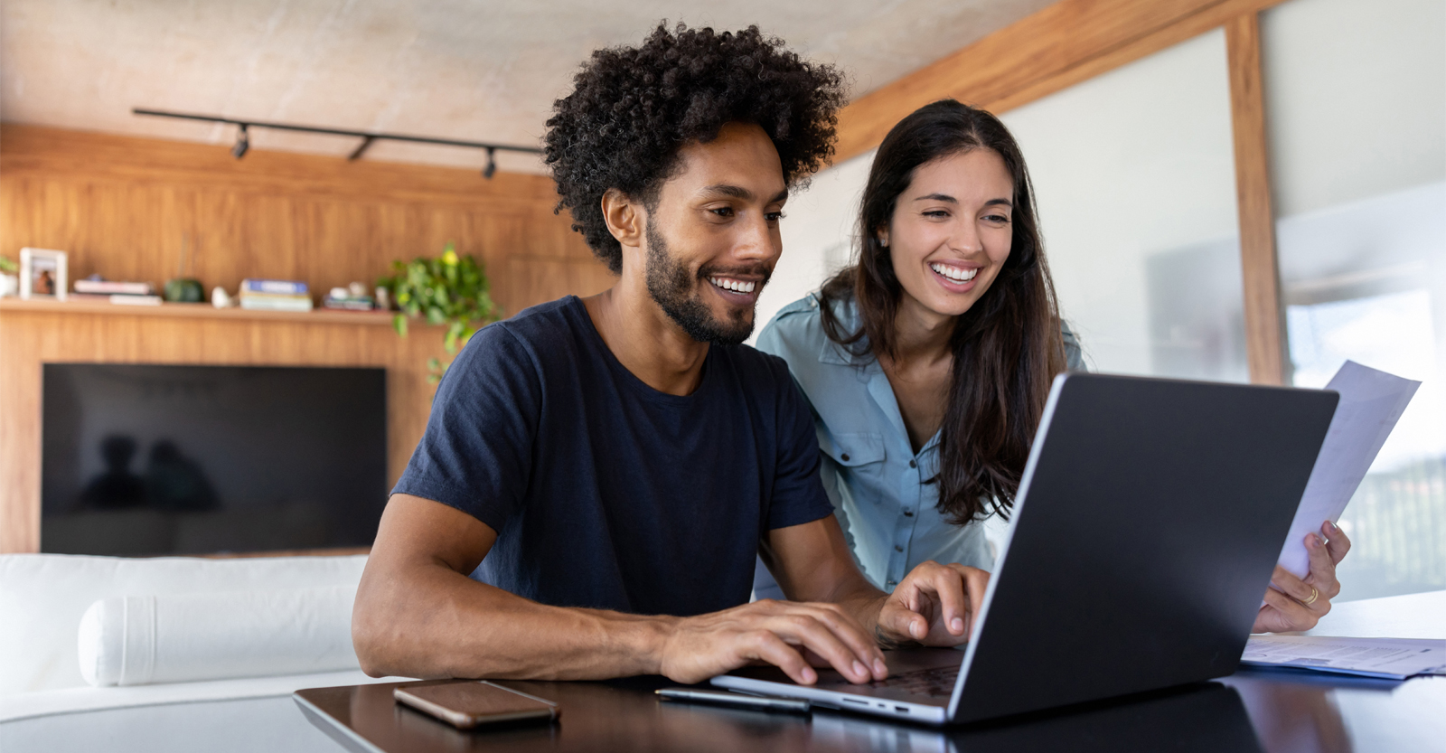
[{"label": "woman's hand with a ring, gripping papers behind the laptop", "polygon": [[1335,523],[1326,520],[1320,533],[1306,533],[1306,554],[1310,558],[1310,572],[1297,578],[1285,568],[1275,565],[1270,588],[1265,590],[1265,606],[1255,616],[1252,633],[1284,633],[1310,630],[1330,611],[1330,600],[1340,593],[1336,580],[1336,564],[1351,551],[1351,539]]}]

